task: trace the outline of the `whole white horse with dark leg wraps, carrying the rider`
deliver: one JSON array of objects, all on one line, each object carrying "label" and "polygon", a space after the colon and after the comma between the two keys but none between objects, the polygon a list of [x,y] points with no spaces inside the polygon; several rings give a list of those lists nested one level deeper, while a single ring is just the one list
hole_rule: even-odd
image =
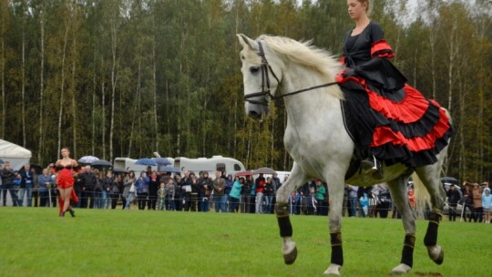
[{"label": "whole white horse with dark leg wraps, carrying the rider", "polygon": [[[283,141],[294,163],[290,178],[277,191],[276,213],[283,239],[284,262],[291,264],[297,256],[287,206],[293,190],[313,177],[328,182],[332,258],[324,273],[339,275],[343,265],[341,230],[345,183],[371,186],[387,182],[405,228],[401,263],[393,272],[409,272],[413,266],[415,215],[409,206],[406,185],[414,170],[395,164],[384,166],[383,180],[374,180],[360,172],[345,180],[354,155],[354,142],[343,125],[343,92],[334,83],[334,77],[341,69],[340,63],[310,43],[287,37],[260,36],[257,40],[244,35],[238,37],[243,47],[241,72],[247,115],[259,119],[268,113],[268,104],[272,100],[283,98],[285,101],[288,120]],[[424,242],[429,257],[437,264],[444,259],[444,251],[436,242],[446,198],[439,181],[446,149],[437,155],[435,164],[415,169],[431,196],[432,211]]]}]

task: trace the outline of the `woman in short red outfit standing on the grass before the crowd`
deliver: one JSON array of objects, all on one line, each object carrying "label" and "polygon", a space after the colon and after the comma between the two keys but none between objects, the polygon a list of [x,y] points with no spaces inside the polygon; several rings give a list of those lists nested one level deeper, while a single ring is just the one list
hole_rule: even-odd
[{"label": "woman in short red outfit standing on the grass before the crowd", "polygon": [[75,211],[72,210],[70,200],[78,202],[77,194],[74,190],[75,174],[80,167],[77,160],[70,158],[70,150],[67,147],[61,149],[62,159],[55,163],[54,171],[58,173],[56,178],[58,185],[58,200],[60,202],[59,216],[64,217],[65,212],[70,212],[75,217]]}]

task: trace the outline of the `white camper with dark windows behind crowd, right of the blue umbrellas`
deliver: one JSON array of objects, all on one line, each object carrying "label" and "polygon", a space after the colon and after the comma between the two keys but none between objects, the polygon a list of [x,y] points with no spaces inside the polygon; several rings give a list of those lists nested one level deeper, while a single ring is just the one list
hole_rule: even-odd
[{"label": "white camper with dark windows behind crowd, right of the blue umbrellas", "polygon": [[245,170],[241,161],[222,156],[213,156],[210,159],[178,157],[174,159],[174,167],[181,170],[181,172],[185,170],[194,171],[195,173],[207,171],[210,176],[213,176],[214,171],[227,171],[228,174],[234,174]]}]

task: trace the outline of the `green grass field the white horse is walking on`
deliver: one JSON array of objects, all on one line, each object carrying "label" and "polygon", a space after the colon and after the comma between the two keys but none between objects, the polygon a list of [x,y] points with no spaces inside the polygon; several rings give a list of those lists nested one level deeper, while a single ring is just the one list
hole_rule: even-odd
[{"label": "green grass field the white horse is walking on", "polygon": [[[327,219],[292,216],[297,261],[283,264],[273,215],[148,210],[0,209],[1,276],[323,276]],[[427,257],[418,221],[407,276],[491,276],[492,225],[441,223],[445,262]],[[343,219],[343,276],[388,276],[400,261],[401,221]]]}]

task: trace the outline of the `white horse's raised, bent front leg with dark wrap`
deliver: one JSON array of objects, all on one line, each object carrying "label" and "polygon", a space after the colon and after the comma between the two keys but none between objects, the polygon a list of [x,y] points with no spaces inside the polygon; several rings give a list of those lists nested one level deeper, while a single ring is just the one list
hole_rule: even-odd
[{"label": "white horse's raised, bent front leg with dark wrap", "polygon": [[297,258],[297,247],[292,241],[292,224],[289,218],[289,198],[292,191],[300,187],[306,180],[306,175],[302,169],[294,163],[291,176],[277,190],[277,221],[279,223],[280,235],[283,239],[282,254],[283,262],[292,264]]}]

